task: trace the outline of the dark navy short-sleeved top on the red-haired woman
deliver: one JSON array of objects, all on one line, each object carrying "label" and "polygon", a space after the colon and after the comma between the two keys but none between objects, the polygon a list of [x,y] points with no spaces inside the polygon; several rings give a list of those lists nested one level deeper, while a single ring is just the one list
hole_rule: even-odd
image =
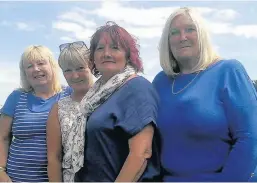
[{"label": "dark navy short-sleeved top on the red-haired woman", "polygon": [[[129,153],[128,140],[146,125],[155,126],[158,98],[143,77],[126,82],[89,117],[84,167],[76,181],[114,182]],[[140,181],[158,181],[160,163],[156,136],[153,154]]]}]

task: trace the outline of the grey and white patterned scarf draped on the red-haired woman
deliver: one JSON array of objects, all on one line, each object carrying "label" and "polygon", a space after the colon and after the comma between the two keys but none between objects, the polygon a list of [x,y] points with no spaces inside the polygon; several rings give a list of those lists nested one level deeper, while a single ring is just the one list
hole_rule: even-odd
[{"label": "grey and white patterned scarf draped on the red-haired woman", "polygon": [[68,154],[70,154],[69,159],[71,160],[71,169],[73,169],[74,174],[78,172],[84,164],[85,129],[88,116],[90,116],[96,108],[103,104],[130,76],[135,73],[135,69],[128,65],[123,72],[114,75],[106,83],[103,83],[101,77],[82,99],[76,121],[73,122],[69,134],[72,141],[69,149],[70,152]]}]

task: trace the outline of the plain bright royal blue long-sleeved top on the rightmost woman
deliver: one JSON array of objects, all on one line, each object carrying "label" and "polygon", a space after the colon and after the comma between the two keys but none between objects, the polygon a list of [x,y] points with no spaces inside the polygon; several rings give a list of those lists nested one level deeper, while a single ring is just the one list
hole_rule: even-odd
[{"label": "plain bright royal blue long-sleeved top on the rightmost woman", "polygon": [[[174,92],[194,77],[178,76]],[[242,64],[219,61],[177,95],[172,81],[164,72],[153,81],[164,180],[248,181],[257,163],[257,101]]]}]

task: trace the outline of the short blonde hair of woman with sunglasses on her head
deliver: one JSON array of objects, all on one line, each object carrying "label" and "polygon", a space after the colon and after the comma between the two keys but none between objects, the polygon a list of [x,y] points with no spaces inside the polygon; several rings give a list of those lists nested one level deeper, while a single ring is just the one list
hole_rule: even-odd
[{"label": "short blonde hair of woman with sunglasses on her head", "polygon": [[70,43],[59,55],[58,64],[62,70],[68,68],[68,65],[81,66],[89,64],[89,49],[86,44]]}]

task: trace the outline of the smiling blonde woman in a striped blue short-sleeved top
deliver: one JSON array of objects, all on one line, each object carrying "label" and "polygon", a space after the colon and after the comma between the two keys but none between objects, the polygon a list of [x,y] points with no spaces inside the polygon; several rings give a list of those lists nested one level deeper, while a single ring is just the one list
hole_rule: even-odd
[{"label": "smiling blonde woman in a striped blue short-sleeved top", "polygon": [[22,54],[21,88],[9,95],[1,110],[0,181],[48,181],[48,113],[56,101],[71,93],[69,88],[62,90],[58,68],[45,46],[29,46]]}]

